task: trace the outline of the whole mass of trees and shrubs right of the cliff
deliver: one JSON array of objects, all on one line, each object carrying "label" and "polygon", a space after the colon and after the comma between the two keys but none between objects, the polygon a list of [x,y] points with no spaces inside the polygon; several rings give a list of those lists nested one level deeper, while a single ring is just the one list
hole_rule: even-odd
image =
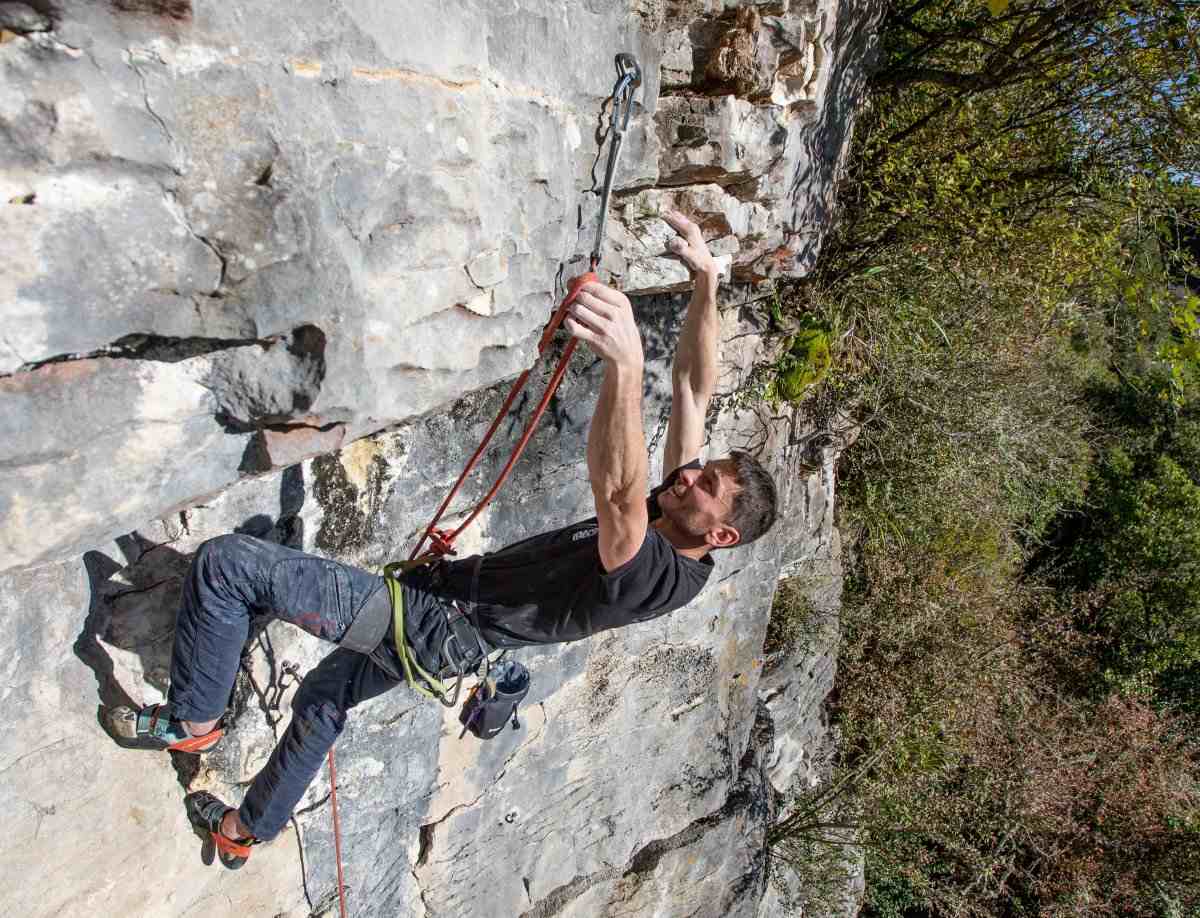
[{"label": "whole mass of trees and shrubs right of the cliff", "polygon": [[[898,0],[774,395],[860,427],[828,786],[869,916],[1200,913],[1200,6]],[[812,361],[815,362],[815,361]],[[834,406],[838,410],[828,410]],[[816,860],[815,860],[816,858]]]}]

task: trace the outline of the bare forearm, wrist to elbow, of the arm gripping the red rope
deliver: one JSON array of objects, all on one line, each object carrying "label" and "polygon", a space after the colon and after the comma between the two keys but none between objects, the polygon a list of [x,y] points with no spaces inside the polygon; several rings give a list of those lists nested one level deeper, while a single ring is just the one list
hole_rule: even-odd
[{"label": "bare forearm, wrist to elbow, of the arm gripping the red rope", "polygon": [[624,506],[646,499],[642,367],[607,362],[588,428],[588,478],[598,502]]}]

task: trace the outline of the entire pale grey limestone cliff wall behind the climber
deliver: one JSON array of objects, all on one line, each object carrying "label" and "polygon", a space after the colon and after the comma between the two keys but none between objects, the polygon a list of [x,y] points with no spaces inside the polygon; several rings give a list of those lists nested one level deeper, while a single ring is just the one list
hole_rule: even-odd
[{"label": "entire pale grey limestone cliff wall behind the climber", "polygon": [[[522,652],[518,732],[458,742],[455,715],[407,690],[356,710],[338,744],[352,913],[778,913],[763,830],[815,774],[836,635],[816,680],[805,658],[764,683],[762,644],[785,563],[835,572],[836,454],[814,462],[803,418],[746,407],[770,342],[742,304],[815,258],[872,16],[0,4],[0,857],[28,881],[0,911],[336,913],[328,775],[240,874],[200,864],[181,806],[185,790],[240,797],[325,648],[259,629],[236,728],[205,758],[120,750],[97,707],[166,689],[206,538],[407,554],[583,266],[612,56],[631,50],[646,84],[605,269],[643,325],[652,450],[685,304],[655,217],[674,203],[734,282],[708,454],[770,457],[786,523],[722,554],[688,610]],[[463,552],[590,514],[599,378],[581,354]],[[518,432],[514,416],[498,449]]]}]

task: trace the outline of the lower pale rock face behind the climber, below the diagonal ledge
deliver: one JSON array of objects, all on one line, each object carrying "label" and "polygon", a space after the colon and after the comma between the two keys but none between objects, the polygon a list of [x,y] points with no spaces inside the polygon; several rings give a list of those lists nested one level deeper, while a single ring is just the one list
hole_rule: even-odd
[{"label": "lower pale rock face behind the climber, below the diagonal ledge", "polygon": [[[648,353],[670,353],[682,307],[680,298],[641,304]],[[709,587],[686,610],[576,644],[522,650],[534,686],[517,732],[460,742],[455,713],[407,689],[356,709],[337,746],[355,914],[479,914],[481,884],[496,913],[756,914],[767,889],[773,775],[779,750],[790,748],[780,725],[822,736],[820,722],[810,722],[820,702],[804,680],[791,695],[760,700],[764,610],[791,552],[815,551],[833,536],[832,514],[811,515],[829,505],[811,494],[829,494],[823,479],[796,464],[790,425],[763,427],[733,408],[728,394],[744,383],[748,354],[767,342],[749,313],[739,320],[731,308],[725,320],[727,407],[709,454],[763,442],[790,526],[720,556]],[[660,358],[647,373],[656,443],[667,370]],[[574,366],[528,460],[464,534],[461,551],[499,547],[590,512],[583,454],[600,372],[584,361]],[[286,722],[299,678],[325,647],[281,624],[258,631],[232,698],[233,732],[215,754],[176,756],[174,769],[164,756],[114,746],[96,726],[97,701],[162,696],[181,580],[206,538],[245,532],[366,566],[403,554],[505,389],[247,479],[82,559],[0,580],[6,620],[22,635],[6,658],[4,698],[17,713],[0,763],[36,766],[11,768],[0,785],[0,804],[16,814],[0,853],[30,876],[55,876],[52,886],[62,890],[44,900],[31,887],[10,887],[0,893],[6,912],[179,914],[215,902],[254,916],[328,908],[336,888],[326,774],[294,824],[240,874],[200,868],[200,845],[181,809],[185,788],[240,798]],[[482,494],[518,434],[517,425],[505,427],[502,455],[470,481],[454,518]],[[798,541],[794,533],[805,535]],[[780,708],[785,697],[791,713]],[[85,772],[76,770],[79,756],[90,763]],[[86,844],[73,828],[79,823],[113,841],[76,863]],[[72,842],[40,851],[22,841],[41,833]],[[115,841],[131,834],[146,840],[132,858]],[[151,866],[169,894],[146,902],[138,877]]]}]

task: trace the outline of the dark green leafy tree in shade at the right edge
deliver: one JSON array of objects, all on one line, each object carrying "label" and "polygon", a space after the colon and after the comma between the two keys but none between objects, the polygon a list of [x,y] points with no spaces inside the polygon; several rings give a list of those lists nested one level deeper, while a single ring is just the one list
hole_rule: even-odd
[{"label": "dark green leafy tree in shade at the right edge", "polygon": [[1200,420],[1148,384],[1127,396],[1145,413],[1110,397],[1118,442],[1049,557],[1086,596],[1080,625],[1099,638],[1105,682],[1200,715]]}]

